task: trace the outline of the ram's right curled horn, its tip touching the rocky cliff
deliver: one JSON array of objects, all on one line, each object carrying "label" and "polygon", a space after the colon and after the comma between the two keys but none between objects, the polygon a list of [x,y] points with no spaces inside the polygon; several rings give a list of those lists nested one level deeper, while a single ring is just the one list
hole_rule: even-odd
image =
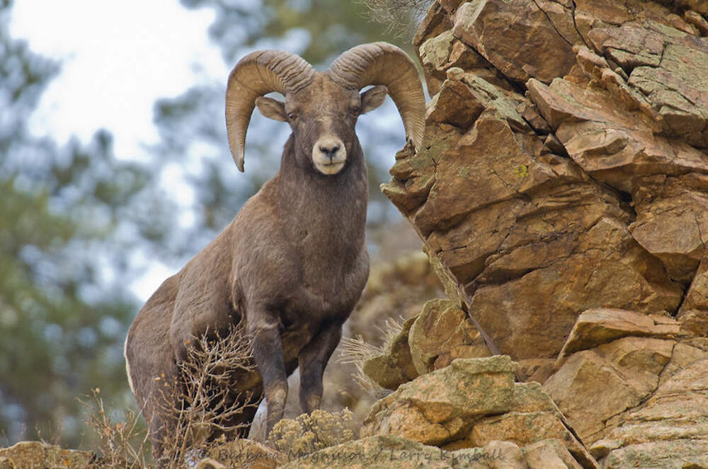
[{"label": "ram's right curled horn, its tip touching the rocky cliff", "polygon": [[406,137],[421,148],[425,130],[426,98],[413,61],[387,42],[358,45],[343,52],[326,72],[339,85],[360,90],[385,85],[403,118]]}]

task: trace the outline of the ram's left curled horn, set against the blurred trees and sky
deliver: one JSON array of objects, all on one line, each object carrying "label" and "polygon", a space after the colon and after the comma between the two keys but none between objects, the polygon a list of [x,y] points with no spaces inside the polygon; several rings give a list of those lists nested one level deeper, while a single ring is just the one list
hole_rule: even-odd
[{"label": "ram's left curled horn, set against the blurred trees and sky", "polygon": [[290,52],[261,50],[246,55],[229,74],[226,88],[226,128],[229,147],[239,170],[244,170],[246,129],[256,98],[271,91],[282,95],[307,86],[315,71],[305,59]]}]

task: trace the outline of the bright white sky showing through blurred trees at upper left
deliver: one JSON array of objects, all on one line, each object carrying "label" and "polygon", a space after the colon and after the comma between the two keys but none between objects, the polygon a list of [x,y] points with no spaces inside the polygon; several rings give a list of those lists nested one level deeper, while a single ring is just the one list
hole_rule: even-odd
[{"label": "bright white sky showing through blurred trees at upper left", "polygon": [[[228,76],[207,34],[214,16],[211,8],[187,9],[178,0],[16,0],[11,37],[62,62],[30,118],[30,131],[58,144],[72,136],[87,143],[105,127],[118,158],[148,161],[144,146],[159,141],[152,123],[155,100]],[[164,175],[169,192],[188,207],[193,188],[171,169]],[[131,257],[147,267],[131,285],[144,301],[174,272],[139,250]]]}]

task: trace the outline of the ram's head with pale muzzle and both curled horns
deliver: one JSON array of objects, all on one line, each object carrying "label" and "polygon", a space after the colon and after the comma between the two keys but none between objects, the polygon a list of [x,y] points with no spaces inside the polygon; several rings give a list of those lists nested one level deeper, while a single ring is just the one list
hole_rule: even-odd
[{"label": "ram's head with pale muzzle and both curled horns", "polygon": [[[272,91],[284,95],[285,102],[264,96]],[[403,118],[406,136],[419,148],[423,87],[415,65],[398,47],[386,42],[353,47],[324,72],[288,52],[253,52],[234,66],[227,86],[227,132],[236,166],[244,170],[246,129],[257,105],[265,117],[290,124],[299,148],[296,157],[307,158],[320,173],[339,173],[352,151],[357,117],[381,105],[387,93]]]}]

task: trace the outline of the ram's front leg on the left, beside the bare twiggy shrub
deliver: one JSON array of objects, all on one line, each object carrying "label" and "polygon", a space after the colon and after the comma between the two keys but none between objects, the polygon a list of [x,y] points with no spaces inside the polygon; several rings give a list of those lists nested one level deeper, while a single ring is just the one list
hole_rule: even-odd
[{"label": "ram's front leg on the left, beside the bare twiggy shrub", "polygon": [[263,378],[263,392],[268,407],[265,436],[282,419],[287,398],[287,375],[282,358],[282,340],[278,323],[261,325],[252,332],[253,359]]}]

